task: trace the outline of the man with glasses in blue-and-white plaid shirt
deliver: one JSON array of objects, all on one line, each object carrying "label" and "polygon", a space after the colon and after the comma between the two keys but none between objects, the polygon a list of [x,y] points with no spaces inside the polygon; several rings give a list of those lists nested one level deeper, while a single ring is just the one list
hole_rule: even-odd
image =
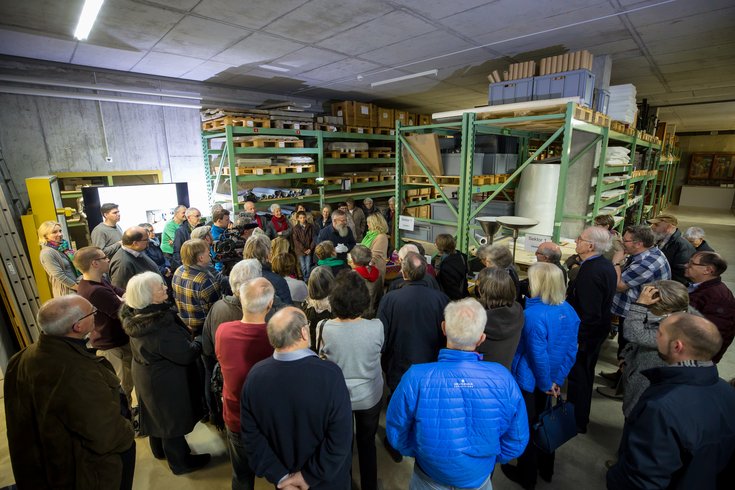
[{"label": "man with glasses in blue-and-white plaid shirt", "polygon": [[[629,226],[623,233],[623,250],[613,255],[612,263],[617,275],[617,293],[613,297],[612,313],[618,320],[618,357],[628,341],[623,335],[625,316],[645,284],[671,279],[671,267],[666,256],[655,245],[655,237],[646,225]],[[627,258],[626,258],[627,256]],[[621,371],[602,373],[604,378],[620,380]],[[622,393],[616,398],[622,399]]]}]

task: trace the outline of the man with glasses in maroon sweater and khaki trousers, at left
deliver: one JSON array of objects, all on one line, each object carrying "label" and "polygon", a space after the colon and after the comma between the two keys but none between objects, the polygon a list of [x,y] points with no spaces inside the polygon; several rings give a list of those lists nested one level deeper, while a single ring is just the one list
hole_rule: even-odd
[{"label": "man with glasses in maroon sweater and khaki trousers, at left", "polygon": [[130,350],[130,338],[123,331],[118,317],[125,290],[113,286],[105,277],[110,270],[110,259],[99,247],[77,250],[74,265],[82,273],[77,294],[97,310],[94,331],[89,336],[89,342],[97,349],[98,356],[110,361],[128,402],[132,402],[133,376],[130,369],[133,354]]}]

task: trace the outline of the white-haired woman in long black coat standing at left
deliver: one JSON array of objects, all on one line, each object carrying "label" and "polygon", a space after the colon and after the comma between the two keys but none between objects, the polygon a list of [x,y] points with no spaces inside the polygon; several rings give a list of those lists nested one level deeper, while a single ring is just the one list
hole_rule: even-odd
[{"label": "white-haired woman in long black coat standing at left", "polygon": [[175,475],[205,466],[209,454],[191,454],[184,437],[205,413],[196,361],[201,341],[167,303],[163,278],[155,272],[133,276],[120,309],[133,351],[133,382],[140,408],[140,431],[149,436],[153,456],[168,460]]}]

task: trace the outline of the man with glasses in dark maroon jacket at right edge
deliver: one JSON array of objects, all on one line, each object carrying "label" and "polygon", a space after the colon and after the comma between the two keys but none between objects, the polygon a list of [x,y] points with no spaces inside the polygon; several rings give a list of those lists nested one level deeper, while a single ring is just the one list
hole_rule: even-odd
[{"label": "man with glasses in dark maroon jacket at right edge", "polygon": [[717,326],[722,348],[712,359],[720,362],[735,338],[735,297],[722,282],[727,262],[715,252],[698,252],[689,259],[684,275],[692,282],[689,304]]}]

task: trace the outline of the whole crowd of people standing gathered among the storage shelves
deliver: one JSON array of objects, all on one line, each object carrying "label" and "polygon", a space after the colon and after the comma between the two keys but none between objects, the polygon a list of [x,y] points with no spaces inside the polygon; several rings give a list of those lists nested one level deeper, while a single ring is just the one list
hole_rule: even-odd
[{"label": "whole crowd of people standing gathered among the storage shelves", "polygon": [[[54,299],[5,377],[20,488],[129,489],[136,432],[174,474],[195,471],[211,459],[185,438],[201,421],[225,432],[233,489],[350,488],[354,445],[359,487],[374,490],[385,409],[388,454],[415,458],[409,488],[491,489],[500,463],[532,489],[554,476],[554,452],[533,442],[550,400],[564,389],[577,432],[594,430],[613,334],[620,369],[598,391],[622,400],[625,425],[608,488],[735,484],[735,388],[716,367],[735,337],[727,263],[673,215],[622,235],[598,216],[564,263],[542,243],[524,279],[506,245],[477,250],[473,276],[440,234],[430,261],[400,247],[389,280],[393,202],[290,216],[247,202],[206,224],[179,206],[160,240],[101,209],[92,246],[74,250],[55,222],[38,230]],[[217,247],[233,230],[234,263]]]}]

